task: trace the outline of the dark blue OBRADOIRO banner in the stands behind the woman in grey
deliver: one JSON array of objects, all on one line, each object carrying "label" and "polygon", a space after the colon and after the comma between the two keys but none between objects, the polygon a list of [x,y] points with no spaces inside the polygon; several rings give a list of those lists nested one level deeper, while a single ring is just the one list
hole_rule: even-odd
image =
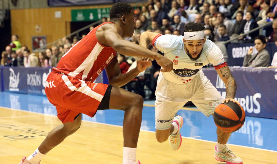
[{"label": "dark blue OBRADOIRO banner in the stands behind the woman in grey", "polygon": [[[229,66],[242,66],[244,56],[248,53],[249,48],[253,48],[253,54],[257,53],[254,43],[230,43],[227,44],[227,54]],[[277,47],[274,42],[267,43],[266,50],[271,56],[271,61],[274,53],[277,51]]]}]

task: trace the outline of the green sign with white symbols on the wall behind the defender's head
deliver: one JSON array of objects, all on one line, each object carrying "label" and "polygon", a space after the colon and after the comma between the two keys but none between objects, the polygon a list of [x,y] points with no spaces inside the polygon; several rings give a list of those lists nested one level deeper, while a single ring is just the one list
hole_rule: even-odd
[{"label": "green sign with white symbols on the wall behind the defender's head", "polygon": [[109,18],[110,8],[71,10],[71,21],[98,21],[103,17]]}]

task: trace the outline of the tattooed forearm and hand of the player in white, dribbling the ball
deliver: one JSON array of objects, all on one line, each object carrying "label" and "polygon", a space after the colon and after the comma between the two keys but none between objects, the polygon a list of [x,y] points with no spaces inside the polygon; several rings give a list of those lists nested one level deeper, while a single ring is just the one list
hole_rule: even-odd
[{"label": "tattooed forearm and hand of the player in white, dribbling the ball", "polygon": [[237,84],[234,79],[234,77],[231,74],[231,71],[228,66],[225,66],[223,68],[219,68],[216,70],[221,80],[225,83],[226,86],[226,98],[223,100],[222,103],[225,101],[228,103],[228,101],[233,101],[234,103],[238,103],[239,101],[236,101],[235,94],[237,91]]}]

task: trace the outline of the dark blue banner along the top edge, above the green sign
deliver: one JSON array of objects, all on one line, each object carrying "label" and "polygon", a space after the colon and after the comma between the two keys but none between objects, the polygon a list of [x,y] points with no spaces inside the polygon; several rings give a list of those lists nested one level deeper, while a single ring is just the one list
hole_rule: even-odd
[{"label": "dark blue banner along the top edge, above the green sign", "polygon": [[113,4],[115,2],[141,2],[141,0],[48,0],[48,6],[80,6],[80,5],[97,5]]}]

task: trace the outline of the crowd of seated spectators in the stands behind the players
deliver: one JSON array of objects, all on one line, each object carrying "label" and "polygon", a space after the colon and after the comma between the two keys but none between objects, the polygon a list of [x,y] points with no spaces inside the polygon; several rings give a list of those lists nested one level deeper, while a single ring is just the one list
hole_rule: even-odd
[{"label": "crowd of seated spectators in the stands behind the players", "polygon": [[[255,43],[257,50],[255,54],[252,53],[253,49],[245,54],[243,66],[271,65],[272,68],[277,67],[277,54],[275,53],[270,63],[265,46],[267,42],[275,42],[277,46],[277,20],[274,20],[277,17],[276,9],[277,0],[148,0],[147,5],[134,7],[136,28],[133,37],[126,39],[139,44],[140,35],[144,31],[183,35],[186,23],[202,23],[206,38],[215,42],[221,49],[225,61],[228,60],[228,55],[224,41],[237,37],[232,42]],[[109,18],[102,18],[102,23],[108,21]],[[270,21],[273,21],[272,26],[242,35]],[[89,30],[93,28],[90,27]],[[82,38],[85,36],[86,34],[83,34]],[[56,45],[37,54],[31,53],[26,46],[21,47],[17,35],[13,35],[11,40],[0,57],[2,66],[56,67],[61,57],[79,38],[75,36],[72,39],[60,39]],[[157,51],[151,45],[149,49]],[[118,55],[122,73],[135,67],[135,60],[136,58],[131,56]],[[158,75],[159,65],[153,61],[152,67],[140,74],[135,81],[146,82],[154,96]]]}]

